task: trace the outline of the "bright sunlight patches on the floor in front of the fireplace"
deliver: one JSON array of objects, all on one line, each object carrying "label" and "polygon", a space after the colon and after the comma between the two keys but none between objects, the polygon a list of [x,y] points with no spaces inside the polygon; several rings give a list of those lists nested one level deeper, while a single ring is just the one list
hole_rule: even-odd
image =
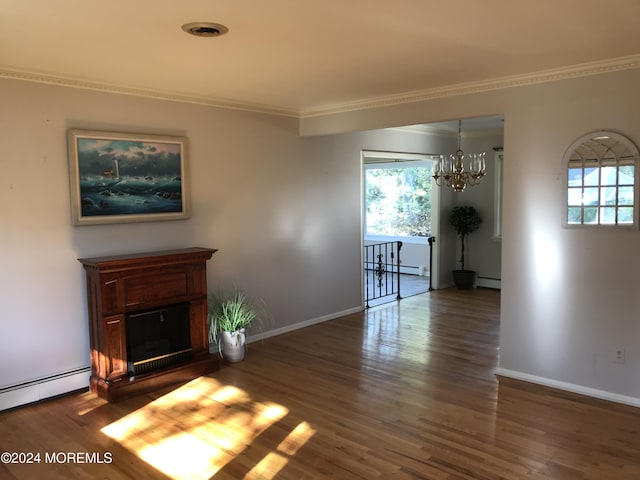
[{"label": "bright sunlight patches on the floor in front of the fireplace", "polygon": [[[197,378],[102,428],[175,480],[209,479],[289,413],[209,377]],[[300,423],[245,478],[273,478],[315,430]]]}]

